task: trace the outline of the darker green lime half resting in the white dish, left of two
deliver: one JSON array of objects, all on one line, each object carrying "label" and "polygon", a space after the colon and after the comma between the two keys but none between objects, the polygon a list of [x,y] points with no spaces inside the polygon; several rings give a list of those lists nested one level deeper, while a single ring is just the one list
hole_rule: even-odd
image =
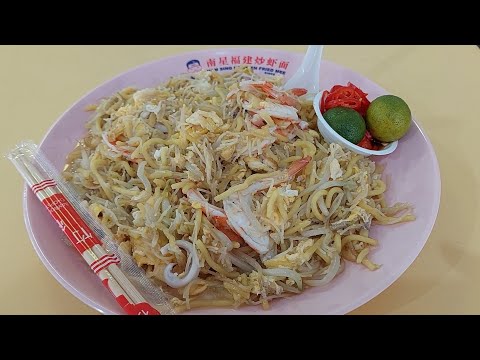
[{"label": "darker green lime half resting in the white dish, left of two", "polygon": [[332,108],[323,113],[323,118],[338,135],[353,144],[358,144],[367,131],[362,116],[350,108]]}]

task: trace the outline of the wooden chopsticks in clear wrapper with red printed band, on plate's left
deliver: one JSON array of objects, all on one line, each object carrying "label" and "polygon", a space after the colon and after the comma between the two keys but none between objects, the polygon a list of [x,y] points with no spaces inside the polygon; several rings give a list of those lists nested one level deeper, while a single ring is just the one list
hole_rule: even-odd
[{"label": "wooden chopsticks in clear wrapper with red printed band, on plate's left", "polygon": [[123,310],[129,315],[160,315],[122,272],[118,266],[119,257],[103,248],[100,239],[68,201],[57,182],[42,175],[45,172],[35,166],[31,156],[13,152],[9,158]]}]

